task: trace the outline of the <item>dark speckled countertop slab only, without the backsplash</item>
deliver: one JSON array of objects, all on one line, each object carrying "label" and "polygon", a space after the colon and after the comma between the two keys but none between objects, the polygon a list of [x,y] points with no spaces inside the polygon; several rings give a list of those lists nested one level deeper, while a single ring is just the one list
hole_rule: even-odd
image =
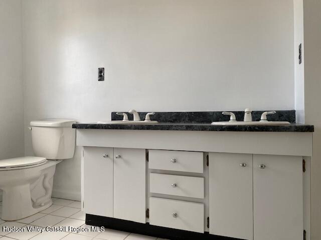
[{"label": "dark speckled countertop slab only, without the backsplash", "polygon": [[126,130],[186,130],[186,131],[287,131],[313,132],[313,125],[291,123],[289,125],[211,125],[209,123],[158,123],[158,124],[98,124],[74,123],[77,129],[126,129]]}]

